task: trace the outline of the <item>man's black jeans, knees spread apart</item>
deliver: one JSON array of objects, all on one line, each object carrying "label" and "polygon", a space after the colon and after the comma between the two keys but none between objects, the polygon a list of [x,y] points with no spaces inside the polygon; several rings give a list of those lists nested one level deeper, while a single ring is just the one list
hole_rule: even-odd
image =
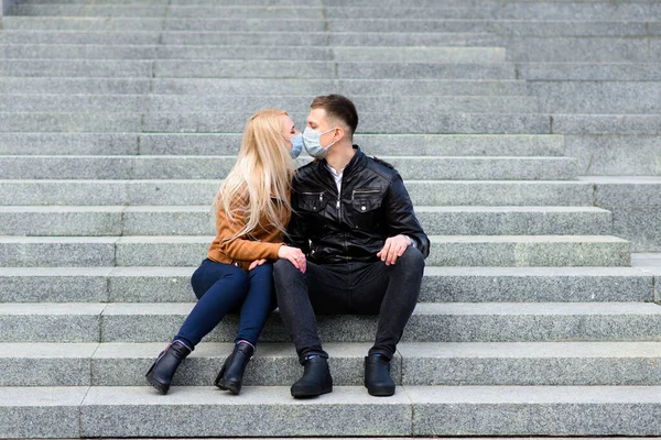
[{"label": "man's black jeans, knees spread apart", "polygon": [[379,315],[375,345],[369,354],[392,359],[397,343],[420,296],[424,258],[409,246],[397,263],[315,264],[302,274],[289,261],[273,265],[280,315],[296,346],[299,361],[322,349],[315,314]]}]

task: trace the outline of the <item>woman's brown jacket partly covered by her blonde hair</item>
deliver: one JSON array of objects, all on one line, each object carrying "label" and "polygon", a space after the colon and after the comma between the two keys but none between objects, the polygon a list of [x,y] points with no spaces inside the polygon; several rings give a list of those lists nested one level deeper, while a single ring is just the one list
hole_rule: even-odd
[{"label": "woman's brown jacket partly covered by her blonde hair", "polygon": [[[272,200],[274,201],[274,199]],[[232,210],[239,213],[235,215],[231,220],[227,217],[224,209],[218,210],[218,222],[216,226],[218,234],[209,246],[207,257],[218,263],[234,264],[248,272],[250,263],[256,260],[278,260],[278,251],[284,244],[284,234],[271,224],[264,227],[264,220],[260,221],[260,226],[250,234],[227,240],[236,235],[246,226],[246,219],[240,215],[246,206],[246,199],[238,199],[232,205]],[[284,212],[283,210],[280,218],[286,228],[291,212]]]}]

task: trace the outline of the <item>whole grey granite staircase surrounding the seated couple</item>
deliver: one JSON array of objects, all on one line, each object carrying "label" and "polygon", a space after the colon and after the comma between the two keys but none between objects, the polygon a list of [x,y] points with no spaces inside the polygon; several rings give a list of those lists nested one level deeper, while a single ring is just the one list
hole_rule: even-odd
[{"label": "whole grey granite staircase surrounding the seated couple", "polygon": [[[661,436],[660,23],[652,1],[19,1],[0,437]],[[376,318],[340,316],[335,392],[292,399],[275,312],[240,396],[212,386],[236,317],[156,395],[247,117],[303,127],[328,92],[432,239],[398,393],[361,385]]]}]

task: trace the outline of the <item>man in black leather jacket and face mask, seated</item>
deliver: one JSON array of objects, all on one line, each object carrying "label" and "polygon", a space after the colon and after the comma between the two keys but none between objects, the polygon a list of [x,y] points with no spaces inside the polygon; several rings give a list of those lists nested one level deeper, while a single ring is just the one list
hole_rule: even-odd
[{"label": "man in black leather jacket and face mask, seated", "polygon": [[316,161],[294,177],[285,239],[303,250],[307,268],[303,274],[289,261],[273,268],[280,314],[304,366],[292,396],[333,391],[315,312],[379,315],[365,386],[391,396],[390,361],[418,302],[430,242],[397,170],[353,145],[354,103],[328,95],[311,108],[303,143]]}]

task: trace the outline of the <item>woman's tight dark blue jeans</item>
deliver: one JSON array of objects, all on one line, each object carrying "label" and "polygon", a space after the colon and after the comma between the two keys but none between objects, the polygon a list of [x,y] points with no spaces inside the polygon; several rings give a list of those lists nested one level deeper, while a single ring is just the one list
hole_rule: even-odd
[{"label": "woman's tight dark blue jeans", "polygon": [[198,301],[174,338],[191,349],[235,310],[239,311],[235,342],[246,340],[254,345],[269,314],[277,307],[270,262],[246,273],[238,266],[205,258],[191,285]]}]

